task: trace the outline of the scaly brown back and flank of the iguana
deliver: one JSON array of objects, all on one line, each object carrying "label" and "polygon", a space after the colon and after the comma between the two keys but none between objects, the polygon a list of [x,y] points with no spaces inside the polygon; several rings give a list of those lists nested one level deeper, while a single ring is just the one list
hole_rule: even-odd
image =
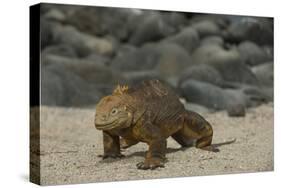
[{"label": "scaly brown back and flank of the iguana", "polygon": [[125,96],[124,100],[129,106],[137,112],[149,113],[157,124],[174,120],[185,111],[175,92],[158,80],[144,81],[131,87],[127,95],[131,100]]}]

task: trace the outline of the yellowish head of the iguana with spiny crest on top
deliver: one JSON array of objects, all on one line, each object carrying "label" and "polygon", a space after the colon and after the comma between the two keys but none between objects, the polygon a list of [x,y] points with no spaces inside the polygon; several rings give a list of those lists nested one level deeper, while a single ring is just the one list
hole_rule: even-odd
[{"label": "yellowish head of the iguana with spiny crest on top", "polygon": [[102,98],[97,104],[95,126],[98,130],[122,129],[132,124],[133,114],[124,105],[120,97],[121,93],[116,93],[121,92],[121,90],[117,91],[118,88],[121,87],[117,87],[113,95]]}]

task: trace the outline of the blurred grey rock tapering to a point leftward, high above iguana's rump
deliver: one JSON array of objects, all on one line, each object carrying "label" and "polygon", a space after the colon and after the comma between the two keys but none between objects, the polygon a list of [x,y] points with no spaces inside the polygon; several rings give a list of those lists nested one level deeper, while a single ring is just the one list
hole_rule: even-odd
[{"label": "blurred grey rock tapering to a point leftward, high above iguana's rump", "polygon": [[195,29],[186,27],[179,33],[163,39],[162,42],[175,43],[182,46],[186,51],[192,52],[199,46],[200,39]]}]

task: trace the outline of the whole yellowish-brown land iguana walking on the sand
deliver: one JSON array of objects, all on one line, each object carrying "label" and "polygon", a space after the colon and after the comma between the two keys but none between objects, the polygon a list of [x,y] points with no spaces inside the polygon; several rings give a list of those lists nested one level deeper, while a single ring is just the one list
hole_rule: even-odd
[{"label": "whole yellowish-brown land iguana walking on the sand", "polygon": [[158,80],[130,88],[118,85],[97,104],[95,127],[103,131],[104,159],[123,157],[120,143],[122,148],[147,143],[148,152],[138,169],[164,167],[169,136],[183,147],[195,144],[203,150],[219,151],[211,145],[211,125],[199,114],[185,110],[178,96]]}]

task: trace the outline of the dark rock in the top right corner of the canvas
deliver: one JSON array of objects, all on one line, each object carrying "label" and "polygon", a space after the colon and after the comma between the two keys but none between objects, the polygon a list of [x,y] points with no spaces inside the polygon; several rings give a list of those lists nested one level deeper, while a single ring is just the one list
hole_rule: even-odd
[{"label": "dark rock in the top right corner of the canvas", "polygon": [[231,42],[250,40],[257,44],[273,44],[273,19],[242,17],[227,28],[226,39]]}]

